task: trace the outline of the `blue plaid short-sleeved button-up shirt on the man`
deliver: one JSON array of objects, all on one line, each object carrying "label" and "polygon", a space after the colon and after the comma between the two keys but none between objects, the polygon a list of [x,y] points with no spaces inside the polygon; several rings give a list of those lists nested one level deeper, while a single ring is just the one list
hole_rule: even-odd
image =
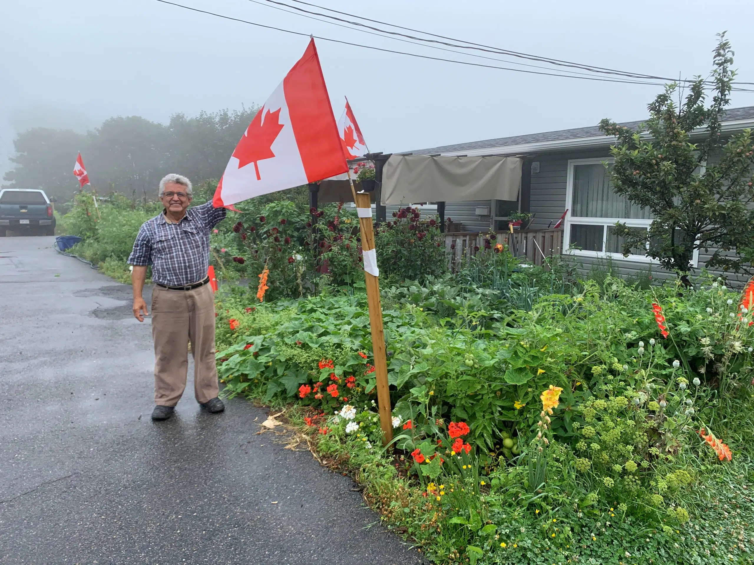
[{"label": "blue plaid short-sleeved button-up shirt on the man", "polygon": [[162,212],[142,224],[127,262],[152,265],[152,280],[164,286],[204,280],[210,266],[210,230],[226,213],[225,208],[213,207],[211,200],[186,210],[177,224],[168,223]]}]

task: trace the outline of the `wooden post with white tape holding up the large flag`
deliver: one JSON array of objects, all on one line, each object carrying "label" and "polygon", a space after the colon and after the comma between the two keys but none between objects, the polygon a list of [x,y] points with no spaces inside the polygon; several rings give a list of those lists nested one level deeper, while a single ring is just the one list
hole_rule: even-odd
[{"label": "wooden post with white tape holding up the large flag", "polygon": [[366,301],[369,304],[369,325],[372,328],[372,353],[375,358],[375,377],[377,378],[377,403],[379,405],[379,423],[382,428],[382,444],[393,441],[393,413],[390,405],[388,388],[388,358],[385,355],[385,331],[382,328],[382,304],[379,298],[379,270],[375,255],[375,234],[372,226],[372,199],[368,193],[357,193],[351,171],[348,182],[354,194],[356,210],[359,212],[361,228],[361,249],[363,251],[364,278],[366,279]]}]

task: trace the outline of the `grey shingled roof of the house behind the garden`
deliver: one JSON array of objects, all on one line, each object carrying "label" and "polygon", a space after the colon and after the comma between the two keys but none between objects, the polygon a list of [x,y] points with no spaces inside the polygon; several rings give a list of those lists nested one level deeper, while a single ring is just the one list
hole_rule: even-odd
[{"label": "grey shingled roof of the house behind the garden", "polygon": [[[725,111],[723,121],[738,121],[754,119],[754,106],[744,106],[742,108],[729,108]],[[642,120],[627,121],[621,125],[636,128]],[[524,145],[538,142],[556,142],[561,139],[578,139],[581,137],[601,136],[598,126],[576,127],[570,130],[548,131],[543,133],[529,133],[524,136],[500,137],[498,139],[483,139],[482,141],[469,143],[456,143],[455,145],[441,145],[440,147],[431,147],[428,149],[418,149],[415,151],[403,151],[400,154],[414,155],[432,155],[444,153],[458,153],[459,151],[479,151],[486,148],[504,148],[507,145]]]}]

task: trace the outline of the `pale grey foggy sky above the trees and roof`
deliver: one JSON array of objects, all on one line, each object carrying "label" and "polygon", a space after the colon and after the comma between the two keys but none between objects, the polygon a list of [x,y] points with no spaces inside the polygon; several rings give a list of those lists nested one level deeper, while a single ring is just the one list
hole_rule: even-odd
[{"label": "pale grey foggy sky above the trees and roof", "polygon": [[[455,56],[249,0],[175,1],[298,32]],[[511,50],[682,78],[709,72],[715,34],[728,30],[739,80],[754,82],[750,1],[311,1]],[[155,0],[5,0],[0,6],[0,172],[9,164],[14,128],[86,130],[113,115],[165,123],[176,112],[262,104],[308,42]],[[601,118],[642,119],[661,90],[418,60],[320,40],[317,46],[336,118],[348,96],[372,151],[583,127]],[[734,93],[732,101],[754,105],[754,93]]]}]

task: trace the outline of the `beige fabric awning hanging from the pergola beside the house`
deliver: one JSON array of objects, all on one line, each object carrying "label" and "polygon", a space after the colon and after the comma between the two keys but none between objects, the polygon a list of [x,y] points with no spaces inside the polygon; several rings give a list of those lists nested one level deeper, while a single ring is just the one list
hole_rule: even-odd
[{"label": "beige fabric awning hanging from the pergola beside the house", "polygon": [[516,200],[518,157],[391,155],[382,170],[382,204]]}]

